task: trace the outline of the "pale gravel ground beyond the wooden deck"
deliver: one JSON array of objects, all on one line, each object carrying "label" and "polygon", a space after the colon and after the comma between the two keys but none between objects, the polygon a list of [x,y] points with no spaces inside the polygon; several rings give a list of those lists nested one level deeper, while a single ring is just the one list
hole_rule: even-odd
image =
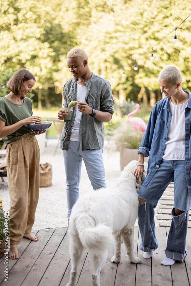
[{"label": "pale gravel ground beyond the wooden deck", "polygon": [[[67,227],[67,200],[66,200],[66,181],[64,172],[63,155],[60,147],[54,151],[58,139],[48,139],[44,154],[40,156],[40,163],[51,163],[52,165],[52,186],[40,188],[39,202],[36,210],[36,217],[33,229],[46,229],[52,227]],[[106,182],[112,186],[115,179],[120,174],[119,152],[110,152],[111,142],[106,138],[104,144],[103,160],[105,165]],[[2,160],[0,162],[3,162]],[[82,162],[82,175],[80,182],[80,195],[87,192],[93,192],[92,186],[88,179],[86,168]],[[0,199],[3,199],[3,206],[9,209],[9,189],[7,178],[1,182],[0,178]],[[158,206],[157,206],[158,208]],[[155,212],[155,223],[157,221],[157,211]],[[135,223],[137,224],[137,221]]]}]

